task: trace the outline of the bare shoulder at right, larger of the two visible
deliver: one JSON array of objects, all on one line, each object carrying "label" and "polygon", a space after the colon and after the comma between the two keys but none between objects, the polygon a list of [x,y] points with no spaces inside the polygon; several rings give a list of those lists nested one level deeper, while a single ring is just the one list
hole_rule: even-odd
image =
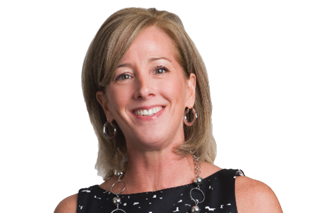
[{"label": "bare shoulder at right, larger of the two visible", "polygon": [[239,213],[283,213],[276,194],[260,180],[237,176],[235,190]]}]

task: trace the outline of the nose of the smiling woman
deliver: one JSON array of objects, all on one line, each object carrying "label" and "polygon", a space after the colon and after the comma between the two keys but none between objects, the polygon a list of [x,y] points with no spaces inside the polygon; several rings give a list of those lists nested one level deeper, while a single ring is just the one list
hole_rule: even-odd
[{"label": "nose of the smiling woman", "polygon": [[150,76],[140,74],[135,79],[136,91],[134,92],[135,99],[147,99],[150,95],[154,95],[153,83]]}]

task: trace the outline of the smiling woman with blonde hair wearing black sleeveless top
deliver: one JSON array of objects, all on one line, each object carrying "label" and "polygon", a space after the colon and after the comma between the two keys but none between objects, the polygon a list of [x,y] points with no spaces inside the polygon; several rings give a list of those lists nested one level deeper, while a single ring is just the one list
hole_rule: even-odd
[{"label": "smiling woman with blonde hair wearing black sleeveless top", "polygon": [[214,165],[208,73],[176,14],[110,14],[87,49],[82,93],[105,181],[54,212],[283,212],[266,184]]}]

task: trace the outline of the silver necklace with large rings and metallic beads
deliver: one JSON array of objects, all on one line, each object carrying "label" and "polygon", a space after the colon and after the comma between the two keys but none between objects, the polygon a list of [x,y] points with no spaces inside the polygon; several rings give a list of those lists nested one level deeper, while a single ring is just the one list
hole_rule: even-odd
[{"label": "silver necklace with large rings and metallic beads", "polygon": [[[195,202],[195,205],[191,208],[191,213],[199,213],[200,212],[200,208],[199,208],[198,204],[204,202],[204,198],[205,198],[203,191],[200,189],[200,185],[202,184],[203,179],[200,177],[201,166],[198,164],[199,158],[197,158],[195,155],[192,155],[192,157],[193,157],[193,162],[196,164],[195,171],[197,173],[197,177],[196,177],[196,180],[194,182],[196,184],[196,187],[192,188],[190,190],[191,200]],[[118,180],[114,184],[112,184],[112,186],[111,186],[111,193],[116,195],[116,197],[114,197],[112,199],[112,203],[116,206],[116,209],[114,209],[111,213],[114,213],[114,212],[117,212],[117,211],[122,211],[122,212],[126,213],[123,209],[119,208],[119,205],[121,204],[121,199],[119,197],[119,194],[121,194],[124,191],[125,187],[126,187],[125,182],[122,180],[122,178],[124,176],[124,172],[116,172],[116,176],[118,177]],[[123,184],[123,189],[120,192],[115,193],[113,191],[113,187],[118,183]],[[203,195],[203,199],[201,201],[199,201],[197,199],[194,199],[192,197],[192,193],[195,190],[198,190]]]}]

